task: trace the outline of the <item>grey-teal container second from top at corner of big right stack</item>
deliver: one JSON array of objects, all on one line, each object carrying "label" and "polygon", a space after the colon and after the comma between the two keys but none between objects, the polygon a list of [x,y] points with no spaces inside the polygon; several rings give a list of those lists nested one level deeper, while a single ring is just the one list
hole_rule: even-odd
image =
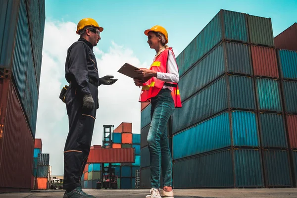
[{"label": "grey-teal container second from top at corner of big right stack", "polygon": [[252,75],[248,45],[222,42],[211,50],[180,79],[182,101],[226,72]]}]

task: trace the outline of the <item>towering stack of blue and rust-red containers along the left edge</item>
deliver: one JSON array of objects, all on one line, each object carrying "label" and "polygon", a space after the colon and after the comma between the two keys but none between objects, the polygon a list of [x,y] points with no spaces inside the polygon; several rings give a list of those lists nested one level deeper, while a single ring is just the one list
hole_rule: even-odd
[{"label": "towering stack of blue and rust-red containers along the left edge", "polygon": [[37,164],[32,157],[45,2],[4,0],[0,13],[0,192],[29,191]]}]

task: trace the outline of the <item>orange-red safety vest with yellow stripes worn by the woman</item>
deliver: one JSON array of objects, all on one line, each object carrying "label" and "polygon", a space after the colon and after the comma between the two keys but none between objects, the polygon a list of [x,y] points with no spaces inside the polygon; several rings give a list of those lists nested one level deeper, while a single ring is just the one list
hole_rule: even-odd
[{"label": "orange-red safety vest with yellow stripes worn by the woman", "polygon": [[[173,53],[171,47],[165,49],[157,56],[155,61],[150,65],[149,69],[156,72],[167,73],[167,62],[168,62],[169,50],[171,50],[171,52]],[[139,101],[140,102],[150,101],[151,98],[158,95],[158,93],[160,92],[160,90],[163,88],[164,85],[170,86],[173,88],[173,91],[171,92],[171,96],[174,100],[174,106],[176,108],[182,107],[182,101],[181,101],[180,92],[179,92],[177,83],[167,83],[167,82],[158,80],[156,77],[150,78],[146,83],[143,84]]]}]

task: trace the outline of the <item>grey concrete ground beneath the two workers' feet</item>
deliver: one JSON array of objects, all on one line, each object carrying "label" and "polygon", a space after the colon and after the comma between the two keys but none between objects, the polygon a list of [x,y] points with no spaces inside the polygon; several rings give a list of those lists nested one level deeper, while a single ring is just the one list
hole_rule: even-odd
[{"label": "grey concrete ground beneath the two workers' feet", "polygon": [[[149,190],[96,190],[86,193],[97,198],[145,198]],[[62,198],[63,190],[0,194],[0,198]],[[174,190],[174,198],[297,198],[297,188],[279,189],[187,189]]]}]

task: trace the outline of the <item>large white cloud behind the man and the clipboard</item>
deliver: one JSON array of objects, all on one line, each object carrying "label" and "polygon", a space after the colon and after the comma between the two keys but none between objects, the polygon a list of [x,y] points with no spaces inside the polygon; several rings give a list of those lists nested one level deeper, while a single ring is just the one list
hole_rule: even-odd
[{"label": "large white cloud behind the man and the clipboard", "polygon": [[[64,78],[67,49],[77,41],[76,24],[72,22],[46,22],[43,61],[39,92],[36,138],[42,138],[43,153],[49,153],[53,175],[62,175],[63,150],[68,135],[68,117],[65,104],[58,98]],[[111,86],[99,87],[99,109],[95,122],[92,145],[102,144],[102,125],[117,127],[121,122],[132,122],[133,133],[140,133],[140,89],[133,79],[118,73],[125,62],[147,67],[126,49],[111,42],[107,52],[94,48],[99,64],[99,76],[113,75],[118,81]]]}]

